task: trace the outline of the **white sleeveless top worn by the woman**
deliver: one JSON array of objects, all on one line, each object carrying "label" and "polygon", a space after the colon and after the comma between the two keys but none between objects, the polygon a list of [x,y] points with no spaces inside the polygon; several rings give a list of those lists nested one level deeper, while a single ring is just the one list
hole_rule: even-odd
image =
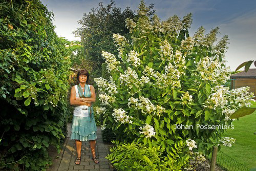
[{"label": "white sleeveless top worn by the woman", "polygon": [[[77,89],[77,85],[75,86],[75,89],[76,89],[76,98],[80,98],[78,89]],[[86,84],[86,86],[84,88],[84,97],[91,97],[91,89],[90,89],[90,85],[88,85],[88,84]],[[73,115],[80,116],[80,117],[89,117],[90,116],[90,107],[87,105],[75,106]]]}]

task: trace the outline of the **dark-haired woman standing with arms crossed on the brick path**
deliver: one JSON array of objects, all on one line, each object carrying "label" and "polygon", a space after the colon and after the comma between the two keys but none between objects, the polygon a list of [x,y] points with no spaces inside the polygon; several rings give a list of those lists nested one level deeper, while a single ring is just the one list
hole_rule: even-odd
[{"label": "dark-haired woman standing with arms crossed on the brick path", "polygon": [[99,163],[96,157],[97,126],[94,119],[92,102],[96,101],[94,87],[89,85],[89,72],[80,70],[77,73],[77,85],[73,86],[70,94],[70,104],[75,105],[71,127],[71,138],[75,140],[77,158],[75,164],[81,162],[82,141],[90,141],[94,163]]}]

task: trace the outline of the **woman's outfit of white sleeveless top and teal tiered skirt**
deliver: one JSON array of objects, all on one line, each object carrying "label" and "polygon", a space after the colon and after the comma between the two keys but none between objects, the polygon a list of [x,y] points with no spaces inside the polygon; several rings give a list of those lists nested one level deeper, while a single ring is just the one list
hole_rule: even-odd
[{"label": "woman's outfit of white sleeveless top and teal tiered skirt", "polygon": [[[75,89],[76,98],[91,97],[89,84],[84,86],[84,92],[82,92],[79,84],[75,86]],[[97,126],[94,118],[93,107],[86,105],[75,106],[70,139],[80,141],[95,140],[97,138],[96,132]]]}]

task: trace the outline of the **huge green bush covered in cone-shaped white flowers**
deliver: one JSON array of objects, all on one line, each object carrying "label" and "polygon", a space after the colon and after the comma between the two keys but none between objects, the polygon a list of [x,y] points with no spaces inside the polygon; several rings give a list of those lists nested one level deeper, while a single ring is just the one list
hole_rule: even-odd
[{"label": "huge green bush covered in cone-shaped white flowers", "polygon": [[[125,20],[132,41],[113,34],[118,56],[102,51],[111,75],[95,79],[102,129],[111,128],[121,141],[160,146],[169,159],[176,156],[180,140],[189,150],[207,154],[220,143],[223,127],[231,126],[229,116],[248,106],[253,96],[248,88],[229,91],[222,86],[230,76],[224,56],[228,37],[214,45],[219,29],[204,35],[203,27],[190,36],[191,14],[164,22],[157,16],[150,20],[143,1],[138,13],[138,22]],[[175,129],[181,124],[188,129]],[[178,155],[183,154],[187,155]],[[181,162],[183,167],[186,162]]]}]

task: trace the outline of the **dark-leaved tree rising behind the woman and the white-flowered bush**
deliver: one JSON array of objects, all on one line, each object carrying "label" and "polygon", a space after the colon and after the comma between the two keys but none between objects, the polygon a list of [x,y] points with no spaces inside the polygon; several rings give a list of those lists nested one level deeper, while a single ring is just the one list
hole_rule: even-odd
[{"label": "dark-leaved tree rising behind the woman and the white-flowered bush", "polygon": [[[150,8],[153,7],[153,4]],[[150,15],[154,11],[149,11]],[[91,9],[88,14],[84,14],[83,18],[78,21],[81,28],[74,33],[81,37],[81,45],[83,48],[84,58],[94,62],[94,70],[98,73],[101,71],[101,64],[105,61],[102,58],[101,51],[108,51],[118,55],[115,43],[113,42],[113,33],[125,35],[127,39],[131,39],[129,29],[125,27],[125,19],[136,19],[136,14],[129,7],[124,9],[117,8],[115,2],[103,6],[99,3],[99,7]],[[100,76],[100,74],[97,74]]]}]

